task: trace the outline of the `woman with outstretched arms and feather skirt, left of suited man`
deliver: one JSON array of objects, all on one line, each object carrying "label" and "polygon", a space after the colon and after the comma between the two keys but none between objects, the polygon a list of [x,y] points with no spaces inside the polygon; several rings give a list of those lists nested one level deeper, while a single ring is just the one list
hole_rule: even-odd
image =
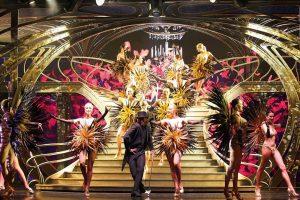
[{"label": "woman with outstretched arms and feather skirt, left of suited man", "polygon": [[[108,110],[100,118],[92,116],[94,106],[91,103],[84,105],[85,115],[83,118],[77,119],[61,119],[53,116],[55,119],[66,123],[74,123],[77,129],[73,133],[71,140],[71,149],[79,155],[80,170],[83,176],[83,189],[86,197],[90,196],[89,190],[93,175],[93,166],[97,156],[97,152],[103,152],[109,141],[107,130],[100,123],[104,119]],[[86,155],[88,156],[87,167],[85,164]]]}]

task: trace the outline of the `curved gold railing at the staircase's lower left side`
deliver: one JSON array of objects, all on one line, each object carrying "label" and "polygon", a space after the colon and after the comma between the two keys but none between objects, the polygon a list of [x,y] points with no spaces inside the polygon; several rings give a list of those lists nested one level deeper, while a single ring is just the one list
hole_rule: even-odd
[{"label": "curved gold railing at the staircase's lower left side", "polygon": [[[49,143],[49,144],[38,145],[38,147],[39,148],[59,147],[59,146],[68,146],[69,144],[70,144],[70,142]],[[27,176],[27,181],[29,181],[30,177],[34,177],[33,173],[37,173],[38,178],[30,180],[29,185],[34,182],[46,183],[47,180],[49,180],[50,178],[58,177],[67,171],[72,171],[78,162],[78,159],[76,159],[76,158],[78,158],[78,155],[74,155],[74,154],[67,155],[68,153],[72,153],[72,152],[74,152],[74,150],[72,150],[72,149],[57,151],[57,152],[53,152],[53,153],[41,153],[41,154],[37,154],[37,155],[33,155],[32,152],[30,152],[30,158],[26,161],[26,166],[30,169],[28,176]],[[59,156],[59,155],[66,155],[66,156],[61,159],[48,160],[49,157]],[[38,160],[40,160],[41,158],[43,159],[43,161],[39,162]],[[73,160],[73,162],[71,162],[71,164],[69,164],[67,167],[64,167],[61,170],[57,170],[56,167],[53,166],[53,164],[67,163],[67,161],[72,161],[72,160]],[[54,169],[54,173],[52,173],[52,174],[43,173],[42,168],[46,165],[50,165]]]}]

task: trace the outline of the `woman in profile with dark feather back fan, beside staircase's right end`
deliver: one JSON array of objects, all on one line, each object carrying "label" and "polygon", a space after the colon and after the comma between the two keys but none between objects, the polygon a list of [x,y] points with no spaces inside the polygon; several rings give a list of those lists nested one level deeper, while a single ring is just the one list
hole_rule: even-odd
[{"label": "woman in profile with dark feather back fan, beside staircase's right end", "polygon": [[237,199],[242,199],[238,192],[238,173],[242,161],[243,143],[246,139],[247,121],[241,117],[243,102],[234,99],[231,102],[231,109],[223,96],[221,89],[214,87],[208,97],[208,107],[215,114],[208,116],[210,127],[210,138],[218,147],[219,154],[226,160],[229,150],[229,167],[225,175],[224,195],[226,199],[232,199],[229,193],[229,182],[233,173],[233,191]]}]

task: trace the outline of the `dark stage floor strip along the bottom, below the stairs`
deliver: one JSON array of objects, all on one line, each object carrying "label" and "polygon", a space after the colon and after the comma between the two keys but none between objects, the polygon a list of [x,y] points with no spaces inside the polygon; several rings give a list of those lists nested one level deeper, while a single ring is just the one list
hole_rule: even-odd
[{"label": "dark stage floor strip along the bottom, below the stairs", "polygon": [[[300,189],[298,189],[298,193]],[[286,189],[272,189],[270,191],[262,191],[263,200],[274,199],[274,200],[284,200],[284,199],[298,199],[289,198]],[[254,193],[243,192],[242,197],[244,200],[260,199],[255,198]],[[2,198],[6,199],[6,198]],[[90,199],[90,200],[130,200],[129,193],[91,193],[89,198],[84,198],[81,192],[41,192],[37,191],[34,195],[29,195],[24,190],[19,190],[15,193],[14,198],[16,200],[74,200],[74,199]],[[141,200],[186,200],[186,199],[205,199],[205,200],[215,200],[224,199],[222,193],[185,193],[180,198],[173,198],[172,193],[152,193],[150,197],[143,196],[141,198],[136,198]],[[300,198],[299,198],[300,199]]]}]

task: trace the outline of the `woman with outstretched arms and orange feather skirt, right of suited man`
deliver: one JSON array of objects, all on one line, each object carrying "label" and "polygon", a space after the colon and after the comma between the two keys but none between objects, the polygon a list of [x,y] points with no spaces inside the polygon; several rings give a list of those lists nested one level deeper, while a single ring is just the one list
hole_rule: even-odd
[{"label": "woman with outstretched arms and orange feather skirt, right of suited man", "polygon": [[175,104],[169,106],[166,119],[151,122],[158,125],[154,134],[154,145],[158,154],[165,152],[167,156],[175,187],[175,197],[184,192],[181,182],[181,157],[185,151],[193,150],[197,144],[197,137],[189,131],[186,125],[201,122],[202,120],[188,120],[179,117]]}]

